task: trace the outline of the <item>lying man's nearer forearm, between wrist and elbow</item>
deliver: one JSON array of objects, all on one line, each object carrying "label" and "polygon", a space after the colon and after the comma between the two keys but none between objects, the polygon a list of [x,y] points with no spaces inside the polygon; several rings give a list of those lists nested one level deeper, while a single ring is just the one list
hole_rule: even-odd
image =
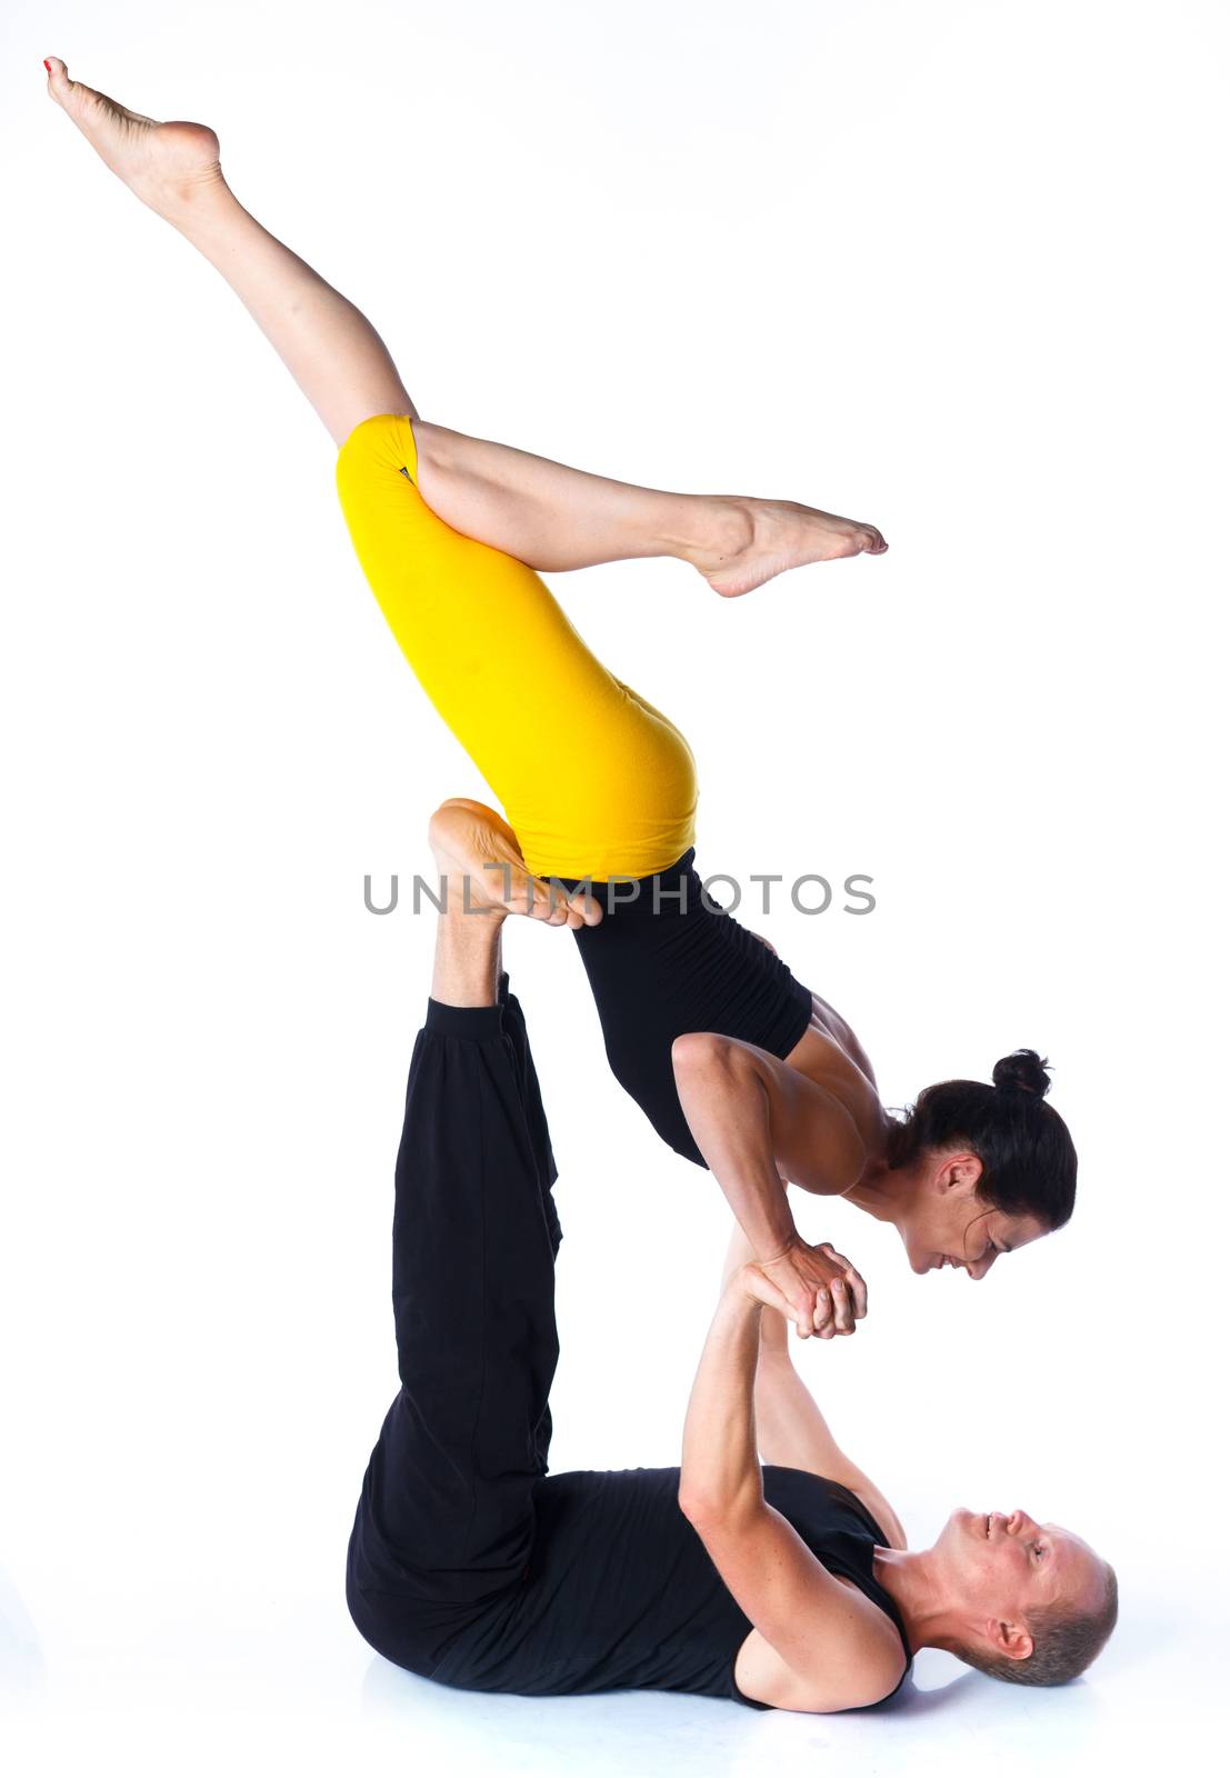
[{"label": "lying man's nearer forearm, between wrist and elbow", "polygon": [[761,1506],[755,1366],[761,1305],[723,1291],[700,1355],[683,1428],[679,1504],[693,1522]]}]

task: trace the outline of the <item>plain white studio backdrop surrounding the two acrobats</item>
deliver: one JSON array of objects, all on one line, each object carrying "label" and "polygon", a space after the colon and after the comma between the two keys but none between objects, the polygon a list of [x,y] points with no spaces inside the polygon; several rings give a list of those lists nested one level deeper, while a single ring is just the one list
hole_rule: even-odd
[{"label": "plain white studio backdrop surrounding the two acrobats", "polygon": [[[341,1577],[395,1387],[393,1156],[430,926],[364,912],[483,795],[350,551],[334,448],[41,57],[222,137],[421,414],[869,519],[745,601],[553,587],[690,736],[706,871],[891,1104],[1029,1044],[1072,1225],[871,1284],[800,1364],[914,1542],[1027,1506],[1118,1566],[1084,1684],[946,1657],[876,1718],[483,1700]],[[4,23],[0,1702],[21,1771],[1118,1769],[1191,1757],[1225,1638],[1219,829],[1226,14],[1209,4],[32,4]],[[555,1467],[677,1462],[727,1213],[507,935],[562,1168]],[[11,1769],[18,1769],[12,1766]]]}]

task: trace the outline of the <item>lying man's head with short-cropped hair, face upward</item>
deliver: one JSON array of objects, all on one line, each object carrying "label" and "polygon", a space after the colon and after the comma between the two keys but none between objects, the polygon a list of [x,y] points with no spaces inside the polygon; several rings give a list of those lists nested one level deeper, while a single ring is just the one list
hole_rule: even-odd
[{"label": "lying man's head with short-cropped hair, face upward", "polygon": [[958,1508],[931,1550],[938,1646],[1018,1686],[1061,1686],[1102,1652],[1118,1616],[1109,1563],[1029,1513]]}]

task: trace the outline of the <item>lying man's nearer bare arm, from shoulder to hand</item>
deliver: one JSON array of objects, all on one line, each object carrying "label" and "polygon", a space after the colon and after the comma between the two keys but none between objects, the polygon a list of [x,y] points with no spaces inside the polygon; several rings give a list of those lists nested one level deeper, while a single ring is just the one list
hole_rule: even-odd
[{"label": "lying man's nearer bare arm, from shoulder to hand", "polygon": [[[834,1289],[844,1293],[843,1284]],[[763,1293],[759,1301],[752,1291]],[[755,1266],[722,1293],[688,1403],[679,1506],[763,1643],[757,1698],[848,1710],[887,1696],[905,1659],[889,1618],[828,1574],[764,1499],[754,1398],[764,1301],[786,1307]]]}]

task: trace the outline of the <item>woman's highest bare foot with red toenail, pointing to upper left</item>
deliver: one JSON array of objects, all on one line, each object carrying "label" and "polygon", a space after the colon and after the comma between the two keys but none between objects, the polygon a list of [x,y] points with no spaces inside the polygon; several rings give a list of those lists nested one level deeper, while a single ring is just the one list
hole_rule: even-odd
[{"label": "woman's highest bare foot with red toenail, pointing to upper left", "polygon": [[203,190],[224,185],[219,139],[203,123],[158,123],[124,110],[105,92],[68,78],[59,55],[46,57],[46,87],[110,171],[160,215]]}]

